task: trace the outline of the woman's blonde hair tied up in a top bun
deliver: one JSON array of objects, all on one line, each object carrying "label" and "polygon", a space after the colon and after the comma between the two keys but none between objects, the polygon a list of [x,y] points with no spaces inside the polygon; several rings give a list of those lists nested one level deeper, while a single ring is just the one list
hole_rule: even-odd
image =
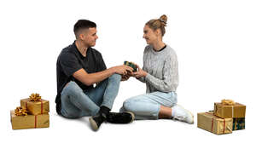
[{"label": "woman's blonde hair tied up in a top bun", "polygon": [[167,16],[166,14],[161,15],[160,19],[154,19],[154,20],[149,20],[146,25],[149,26],[149,28],[153,29],[154,31],[157,29],[160,29],[162,33],[162,37],[166,33],[166,23],[167,22]]}]

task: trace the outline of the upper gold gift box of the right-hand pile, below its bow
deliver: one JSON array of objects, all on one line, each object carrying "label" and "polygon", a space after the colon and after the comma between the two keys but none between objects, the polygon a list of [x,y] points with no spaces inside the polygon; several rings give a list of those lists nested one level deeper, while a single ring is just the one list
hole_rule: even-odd
[{"label": "upper gold gift box of the right-hand pile, below its bow", "polygon": [[234,105],[224,105],[214,103],[214,115],[222,118],[245,117],[246,106],[235,103]]}]

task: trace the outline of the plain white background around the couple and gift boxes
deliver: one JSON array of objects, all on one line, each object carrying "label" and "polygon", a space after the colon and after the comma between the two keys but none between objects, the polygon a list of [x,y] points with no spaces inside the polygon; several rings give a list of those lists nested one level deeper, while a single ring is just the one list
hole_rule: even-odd
[{"label": "plain white background around the couple and gift boxes", "polygon": [[[255,1],[1,1],[1,142],[241,142],[255,132]],[[97,24],[95,49],[108,67],[134,61],[143,66],[143,26],[161,14],[168,16],[164,42],[177,52],[178,104],[195,115],[195,124],[172,120],[102,124],[90,129],[88,117],[78,120],[55,112],[56,59],[73,43],[79,19]],[[11,129],[9,111],[20,99],[39,93],[50,102],[48,129]],[[122,102],[145,93],[131,78],[121,83],[113,112]],[[198,129],[197,112],[232,99],[247,106],[246,129],[215,135]]]}]

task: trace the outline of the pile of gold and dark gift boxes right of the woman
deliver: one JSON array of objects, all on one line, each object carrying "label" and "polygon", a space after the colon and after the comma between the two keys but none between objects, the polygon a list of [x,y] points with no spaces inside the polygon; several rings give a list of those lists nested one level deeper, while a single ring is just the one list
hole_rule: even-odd
[{"label": "pile of gold and dark gift boxes right of the woman", "polygon": [[197,127],[214,134],[229,134],[245,129],[246,106],[233,100],[214,103],[213,112],[197,113]]}]

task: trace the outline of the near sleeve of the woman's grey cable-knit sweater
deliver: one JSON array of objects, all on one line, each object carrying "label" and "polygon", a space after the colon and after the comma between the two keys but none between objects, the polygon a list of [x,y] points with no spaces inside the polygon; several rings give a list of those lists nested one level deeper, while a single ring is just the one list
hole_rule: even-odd
[{"label": "near sleeve of the woman's grey cable-knit sweater", "polygon": [[148,73],[145,77],[145,81],[161,92],[176,91],[178,84],[176,54],[172,54],[171,57],[166,59],[163,67],[162,79],[154,77]]}]

